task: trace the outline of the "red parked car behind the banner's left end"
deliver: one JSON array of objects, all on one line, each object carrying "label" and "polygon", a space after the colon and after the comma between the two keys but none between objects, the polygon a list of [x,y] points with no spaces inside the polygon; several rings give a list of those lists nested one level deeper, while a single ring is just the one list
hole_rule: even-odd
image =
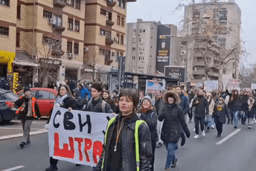
[{"label": "red parked car behind the banner's left end", "polygon": [[[17,92],[17,94],[21,97],[23,95],[23,90]],[[53,88],[34,87],[31,88],[31,94],[36,98],[41,116],[50,116],[58,94],[57,90]]]}]

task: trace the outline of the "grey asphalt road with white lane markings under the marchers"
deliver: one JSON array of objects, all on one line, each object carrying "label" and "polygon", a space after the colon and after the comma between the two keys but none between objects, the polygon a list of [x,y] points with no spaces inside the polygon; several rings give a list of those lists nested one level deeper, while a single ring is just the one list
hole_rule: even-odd
[{"label": "grey asphalt road with white lane markings under the marchers", "polygon": [[[46,120],[34,120],[31,132],[42,130]],[[20,127],[19,127],[20,126]],[[193,139],[194,123],[188,123],[191,138],[185,146],[180,146],[177,152],[178,162],[172,171],[242,171],[256,170],[256,124],[252,129],[240,125],[234,129],[233,125],[223,125],[223,135],[217,138],[217,130],[211,129],[205,138],[199,133],[199,139]],[[221,144],[216,144],[237,132]],[[21,137],[1,140],[5,135],[22,133],[19,120],[14,120],[8,125],[0,125],[0,170],[10,171],[42,171],[49,166],[48,134],[31,135],[31,144],[24,149],[19,147]],[[167,152],[164,147],[156,149],[155,171],[164,170]],[[15,168],[16,167],[16,168]],[[59,170],[92,170],[88,166],[76,167],[75,164],[60,161]],[[9,170],[7,170],[9,169]]]}]

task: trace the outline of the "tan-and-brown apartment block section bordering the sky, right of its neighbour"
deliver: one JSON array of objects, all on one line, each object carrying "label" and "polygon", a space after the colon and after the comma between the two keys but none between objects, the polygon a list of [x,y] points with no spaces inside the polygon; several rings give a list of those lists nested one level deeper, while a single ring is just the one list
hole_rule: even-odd
[{"label": "tan-and-brown apartment block section bordering the sky, right of its neighbour", "polygon": [[125,56],[127,2],[131,1],[136,0],[86,1],[86,65],[106,71],[118,67],[117,57]]}]

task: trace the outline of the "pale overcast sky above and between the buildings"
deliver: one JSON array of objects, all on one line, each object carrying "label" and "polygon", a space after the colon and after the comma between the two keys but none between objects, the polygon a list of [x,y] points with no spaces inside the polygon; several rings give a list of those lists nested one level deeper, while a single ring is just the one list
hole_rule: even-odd
[{"label": "pale overcast sky above and between the buildings", "polygon": [[[185,0],[188,1],[188,0]],[[198,0],[197,0],[198,1]],[[250,54],[248,64],[256,62],[256,0],[235,0],[242,11],[242,39],[246,42],[246,51]],[[161,21],[162,24],[179,25],[184,15],[184,10],[173,10],[179,4],[179,0],[137,0],[127,3],[127,22]]]}]

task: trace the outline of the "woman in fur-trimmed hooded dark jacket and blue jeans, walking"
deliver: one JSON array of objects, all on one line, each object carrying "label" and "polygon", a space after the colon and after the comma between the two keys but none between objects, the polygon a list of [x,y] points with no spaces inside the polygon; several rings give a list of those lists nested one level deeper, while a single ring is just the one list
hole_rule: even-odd
[{"label": "woman in fur-trimmed hooded dark jacket and blue jeans, walking", "polygon": [[176,91],[167,91],[164,94],[164,108],[159,114],[159,121],[164,120],[161,128],[161,140],[164,141],[167,149],[167,161],[164,170],[170,170],[170,164],[172,164],[171,167],[176,167],[178,158],[175,156],[175,151],[178,149],[180,125],[185,135],[188,138],[191,136],[179,101],[179,95]]}]

